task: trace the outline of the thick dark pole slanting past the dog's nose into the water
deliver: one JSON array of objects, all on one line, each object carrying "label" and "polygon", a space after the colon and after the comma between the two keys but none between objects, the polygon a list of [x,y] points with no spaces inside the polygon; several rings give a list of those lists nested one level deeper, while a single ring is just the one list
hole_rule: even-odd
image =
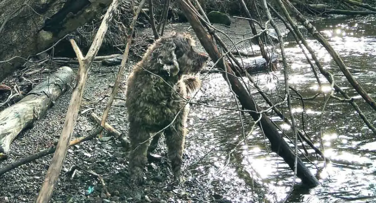
[{"label": "thick dark pole slanting past the dog's nose into the water", "polygon": [[[197,37],[199,38],[206,52],[209,53],[210,58],[213,61],[222,60],[221,54],[217,46],[213,43],[213,40],[210,37],[211,35],[209,35],[205,31],[199,18],[193,13],[192,10],[194,9],[194,6],[190,5],[190,2],[185,0],[177,0],[177,4],[179,5],[180,9],[182,9],[182,11],[184,12],[186,18],[190,21],[193,30],[195,31]],[[294,170],[294,161],[296,157],[293,151],[291,150],[290,146],[278,132],[276,126],[273,124],[270,118],[267,117],[267,115],[256,113],[260,112],[261,108],[257,105],[252,95],[250,95],[246,91],[246,89],[240,83],[238,78],[233,76],[234,73],[233,70],[230,68],[229,64],[226,62],[220,62],[217,64],[217,67],[221,71],[227,71],[228,74],[223,73],[224,79],[229,82],[232,91],[238,96],[237,98],[239,99],[241,105],[245,109],[252,110],[252,112],[250,112],[252,118],[255,121],[259,120],[258,125],[262,126],[265,136],[267,136],[267,138],[270,140],[271,149],[274,152],[276,152],[279,156],[281,156],[287,162],[290,168]],[[299,157],[297,157],[296,166],[297,176],[302,180],[304,184],[309,186],[317,186],[320,184],[316,177],[312,175],[312,173],[308,170],[308,168],[304,165],[304,163]]]}]

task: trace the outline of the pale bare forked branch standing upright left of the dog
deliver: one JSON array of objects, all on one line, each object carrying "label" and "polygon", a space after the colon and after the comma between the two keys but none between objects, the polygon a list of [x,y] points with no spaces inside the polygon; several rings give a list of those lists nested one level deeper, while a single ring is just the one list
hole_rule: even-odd
[{"label": "pale bare forked branch standing upright left of the dog", "polygon": [[94,57],[97,55],[100,46],[102,45],[103,37],[107,32],[108,26],[111,23],[112,17],[115,13],[117,6],[118,0],[113,0],[105,16],[103,17],[103,21],[100,24],[98,32],[85,58],[83,57],[76,42],[73,39],[70,40],[73,46],[73,50],[76,53],[77,59],[80,63],[80,67],[77,73],[76,87],[74,88],[72,93],[70,104],[68,106],[67,115],[65,117],[64,126],[58,141],[58,145],[56,145],[56,151],[52,157],[50,167],[47,171],[46,177],[42,184],[42,188],[39,191],[35,203],[47,203],[51,199],[53,189],[55,189],[56,182],[58,181],[59,174],[61,171],[61,167],[63,166],[65,156],[67,155],[68,145],[72,136],[74,124],[77,120],[77,115],[80,108],[82,94],[85,87],[86,79],[88,77],[90,65],[94,60]]}]

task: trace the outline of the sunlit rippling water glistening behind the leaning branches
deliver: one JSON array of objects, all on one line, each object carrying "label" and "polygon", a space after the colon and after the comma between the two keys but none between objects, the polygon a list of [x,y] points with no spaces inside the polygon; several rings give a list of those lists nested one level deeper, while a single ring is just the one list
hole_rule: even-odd
[{"label": "sunlit rippling water glistening behind the leaning branches", "polygon": [[[376,17],[352,17],[323,19],[315,22],[315,26],[329,40],[352,72],[354,78],[375,98],[376,89]],[[325,48],[313,39],[309,45],[315,50],[324,68],[334,75],[335,82],[350,97],[356,98],[361,110],[375,124],[376,115],[356,91],[351,88],[346,77]],[[296,43],[286,43],[290,70],[290,85],[296,88],[303,97],[314,95],[317,91],[329,92],[330,86],[323,76],[320,80],[326,84],[320,90],[311,67]],[[283,200],[290,191],[293,172],[283,159],[271,152],[268,139],[258,127],[253,128],[253,120],[240,114],[221,108],[237,108],[229,87],[219,74],[207,74],[203,84],[200,102],[218,108],[194,105],[190,115],[190,133],[187,139],[187,153],[194,157],[190,160],[188,170],[195,176],[208,180],[206,187],[226,194],[224,197],[233,202],[277,202]],[[273,75],[258,74],[253,76],[258,85],[270,94],[283,95],[283,73]],[[255,93],[255,90],[252,90]],[[340,94],[335,94],[341,97]],[[199,95],[200,96],[200,95]],[[262,108],[268,105],[255,94]],[[206,98],[206,100],[205,100]],[[209,99],[208,99],[209,98]],[[271,96],[273,102],[280,98]],[[305,101],[305,112],[299,100],[293,100],[294,115],[298,126],[302,129],[302,112],[304,129],[312,141],[321,150],[319,135],[321,111],[324,97]],[[287,106],[280,108],[288,112]],[[290,126],[283,124],[279,117],[270,114],[277,125],[286,132]],[[313,189],[304,188],[296,180],[288,202],[333,203],[333,202],[376,202],[376,142],[374,135],[360,119],[356,111],[346,102],[331,99],[327,103],[323,117],[324,153],[332,159],[332,163],[320,173],[317,168],[305,160],[313,174],[317,174],[321,185]],[[290,134],[291,135],[291,134]],[[290,143],[291,144],[291,143]],[[293,145],[291,145],[293,146]],[[301,148],[301,145],[299,145]],[[318,168],[323,161],[317,159],[314,151],[308,148],[307,157]]]}]

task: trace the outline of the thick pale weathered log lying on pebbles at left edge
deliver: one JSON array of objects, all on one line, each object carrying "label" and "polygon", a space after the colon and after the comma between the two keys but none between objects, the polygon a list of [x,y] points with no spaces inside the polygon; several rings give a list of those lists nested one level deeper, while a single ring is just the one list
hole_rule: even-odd
[{"label": "thick pale weathered log lying on pebbles at left edge", "polygon": [[61,67],[36,85],[20,102],[0,112],[0,153],[9,153],[13,139],[23,129],[32,126],[53,105],[73,78],[71,68]]}]

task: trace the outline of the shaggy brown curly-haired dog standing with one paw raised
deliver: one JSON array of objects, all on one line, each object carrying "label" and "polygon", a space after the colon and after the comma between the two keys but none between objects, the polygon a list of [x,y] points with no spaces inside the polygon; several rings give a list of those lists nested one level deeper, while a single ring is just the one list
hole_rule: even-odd
[{"label": "shaggy brown curly-haired dog standing with one paw raised", "polygon": [[[142,183],[147,155],[157,147],[161,133],[165,136],[174,180],[181,181],[189,112],[186,98],[201,85],[193,74],[208,60],[208,56],[196,52],[194,46],[188,34],[173,32],[163,36],[149,47],[128,78],[126,106],[132,149],[129,172],[134,184]],[[152,138],[149,147],[152,133],[162,129]]]}]

